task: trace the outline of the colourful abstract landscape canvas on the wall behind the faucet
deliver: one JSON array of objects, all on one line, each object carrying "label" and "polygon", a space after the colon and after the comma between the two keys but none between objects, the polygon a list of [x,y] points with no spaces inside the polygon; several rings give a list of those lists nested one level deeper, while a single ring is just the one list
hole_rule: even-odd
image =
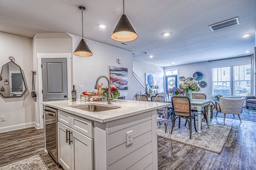
[{"label": "colourful abstract landscape canvas on the wall behind the faucet", "polygon": [[128,68],[109,67],[110,83],[118,90],[128,90]]}]

